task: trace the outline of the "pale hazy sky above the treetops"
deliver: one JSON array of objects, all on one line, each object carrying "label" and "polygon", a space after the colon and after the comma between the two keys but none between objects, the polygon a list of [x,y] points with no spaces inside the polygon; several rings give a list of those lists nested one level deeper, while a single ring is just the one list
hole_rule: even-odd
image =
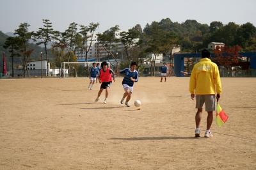
[{"label": "pale hazy sky above the treetops", "polygon": [[122,31],[140,24],[170,18],[172,22],[195,19],[201,24],[251,22],[256,26],[255,0],[0,0],[0,31],[14,32],[27,22],[30,31],[49,19],[55,30],[65,31],[71,22],[88,26],[99,22],[97,32],[118,25]]}]

